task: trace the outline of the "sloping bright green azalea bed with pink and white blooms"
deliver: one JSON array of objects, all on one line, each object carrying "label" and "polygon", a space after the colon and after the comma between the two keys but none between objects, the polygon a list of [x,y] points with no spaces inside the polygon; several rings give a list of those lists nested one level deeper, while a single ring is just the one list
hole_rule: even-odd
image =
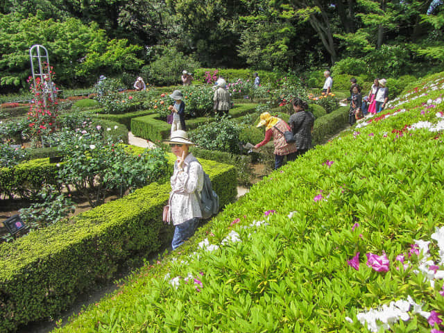
[{"label": "sloping bright green azalea bed with pink and white blooms", "polygon": [[443,82],[275,171],[56,332],[439,332]]}]

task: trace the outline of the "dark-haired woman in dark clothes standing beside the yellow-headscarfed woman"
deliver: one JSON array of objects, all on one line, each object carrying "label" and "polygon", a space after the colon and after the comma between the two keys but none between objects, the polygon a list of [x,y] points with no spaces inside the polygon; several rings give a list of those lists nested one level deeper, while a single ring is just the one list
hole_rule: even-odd
[{"label": "dark-haired woman in dark clothes standing beside the yellow-headscarfed woman", "polygon": [[314,115],[308,111],[308,104],[298,97],[291,102],[295,113],[291,114],[289,125],[296,139],[296,156],[304,155],[311,148],[311,130],[314,126]]}]

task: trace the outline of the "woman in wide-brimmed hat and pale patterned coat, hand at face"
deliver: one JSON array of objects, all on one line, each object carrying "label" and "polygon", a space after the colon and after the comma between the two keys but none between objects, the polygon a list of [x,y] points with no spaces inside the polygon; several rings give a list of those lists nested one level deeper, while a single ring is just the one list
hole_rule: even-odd
[{"label": "woman in wide-brimmed hat and pale patterned coat, hand at face", "polygon": [[194,234],[202,217],[198,196],[203,189],[203,169],[199,161],[191,153],[185,130],[171,133],[169,140],[171,152],[176,155],[173,176],[171,176],[171,192],[169,196],[168,222],[175,225],[171,247],[176,250],[184,241]]}]

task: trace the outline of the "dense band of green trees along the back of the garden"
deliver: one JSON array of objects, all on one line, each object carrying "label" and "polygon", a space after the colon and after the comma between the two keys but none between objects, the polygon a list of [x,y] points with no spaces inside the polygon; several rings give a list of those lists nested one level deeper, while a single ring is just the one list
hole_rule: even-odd
[{"label": "dense band of green trees along the back of the garden", "polygon": [[[300,75],[332,67],[366,80],[434,71],[444,60],[442,8],[429,1],[47,1],[0,8],[1,85],[24,87],[28,49],[44,44],[56,82],[119,76],[130,87],[180,83],[200,65]],[[427,64],[427,66],[424,66]],[[221,75],[223,72],[221,72]],[[228,76],[230,77],[230,76]],[[247,76],[251,78],[251,74]],[[322,79],[322,76],[321,76]]]}]

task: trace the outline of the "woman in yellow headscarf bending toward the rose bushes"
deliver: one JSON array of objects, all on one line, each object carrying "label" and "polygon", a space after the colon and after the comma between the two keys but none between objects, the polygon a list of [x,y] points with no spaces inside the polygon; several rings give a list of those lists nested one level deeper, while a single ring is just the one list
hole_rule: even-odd
[{"label": "woman in yellow headscarf bending toward the rose bushes", "polygon": [[271,137],[273,137],[273,144],[275,145],[275,170],[282,167],[284,164],[284,157],[287,156],[287,162],[296,159],[296,144],[287,144],[284,137],[284,132],[291,130],[288,123],[278,117],[272,117],[268,112],[261,114],[259,123],[256,127],[265,125],[264,141],[259,142],[255,148],[264,146]]}]

